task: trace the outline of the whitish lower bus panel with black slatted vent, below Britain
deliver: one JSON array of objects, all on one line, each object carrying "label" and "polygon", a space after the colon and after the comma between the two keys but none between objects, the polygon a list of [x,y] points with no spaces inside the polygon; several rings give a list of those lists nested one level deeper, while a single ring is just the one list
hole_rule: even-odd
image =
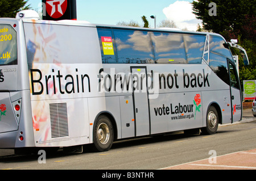
[{"label": "whitish lower bus panel with black slatted vent, below Britain", "polygon": [[34,100],[35,145],[72,146],[89,143],[87,99]]}]

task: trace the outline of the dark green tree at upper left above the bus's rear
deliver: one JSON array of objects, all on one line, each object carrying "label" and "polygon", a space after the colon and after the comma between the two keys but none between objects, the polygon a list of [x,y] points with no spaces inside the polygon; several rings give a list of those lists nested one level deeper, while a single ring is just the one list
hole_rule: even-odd
[{"label": "dark green tree at upper left above the bus's rear", "polygon": [[0,18],[15,18],[20,10],[31,9],[24,0],[0,0]]}]

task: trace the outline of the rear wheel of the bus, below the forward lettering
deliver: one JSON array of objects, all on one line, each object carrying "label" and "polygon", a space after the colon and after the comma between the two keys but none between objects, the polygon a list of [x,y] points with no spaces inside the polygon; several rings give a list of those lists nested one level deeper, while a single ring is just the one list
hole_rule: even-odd
[{"label": "rear wheel of the bus, below the forward lettering", "polygon": [[108,116],[98,116],[93,130],[93,150],[108,151],[114,140],[114,129]]}]

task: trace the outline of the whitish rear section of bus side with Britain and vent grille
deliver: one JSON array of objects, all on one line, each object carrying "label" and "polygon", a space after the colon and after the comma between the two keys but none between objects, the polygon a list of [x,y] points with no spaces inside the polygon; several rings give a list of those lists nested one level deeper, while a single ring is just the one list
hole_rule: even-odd
[{"label": "whitish rear section of bus side with Britain and vent grille", "polygon": [[104,97],[97,91],[102,64],[96,28],[24,20],[24,32],[36,146],[92,142],[95,117],[88,110],[98,112],[89,97]]}]

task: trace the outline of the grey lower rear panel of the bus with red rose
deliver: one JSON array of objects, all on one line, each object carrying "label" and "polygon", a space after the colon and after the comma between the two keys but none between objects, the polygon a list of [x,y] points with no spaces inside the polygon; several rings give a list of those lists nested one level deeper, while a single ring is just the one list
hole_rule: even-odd
[{"label": "grey lower rear panel of the bus with red rose", "polygon": [[0,133],[18,130],[9,92],[0,92]]}]

